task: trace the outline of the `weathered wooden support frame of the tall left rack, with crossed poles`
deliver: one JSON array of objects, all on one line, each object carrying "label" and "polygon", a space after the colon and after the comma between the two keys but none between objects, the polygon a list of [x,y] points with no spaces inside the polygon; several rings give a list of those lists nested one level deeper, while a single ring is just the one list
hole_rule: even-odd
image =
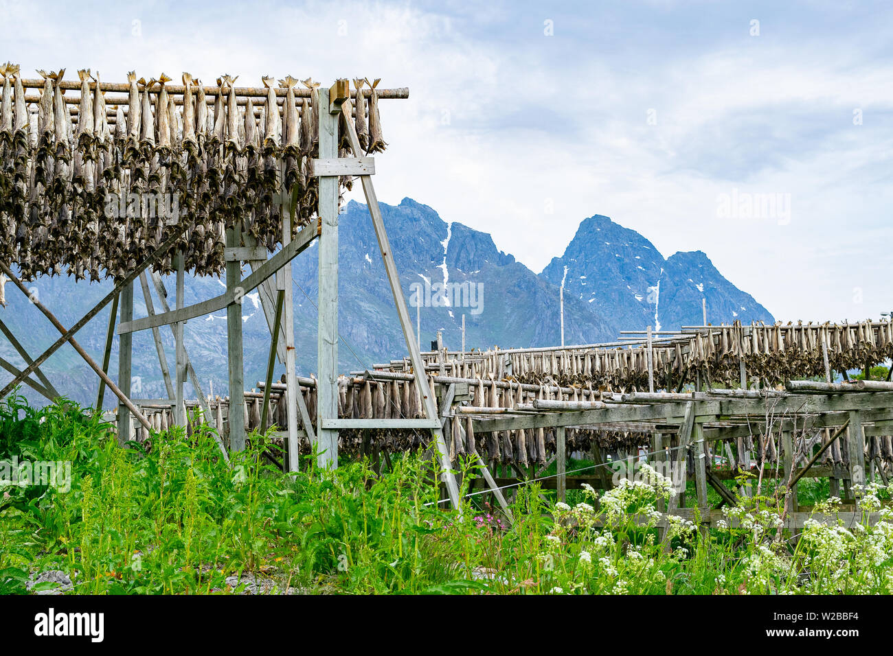
[{"label": "weathered wooden support frame of the tall left rack, with crossed poles", "polygon": [[[166,302],[167,292],[163,287],[161,278],[157,273],[152,272],[154,286],[158,292],[159,299],[162,304],[163,312],[156,314],[154,311],[154,303],[149,293],[148,280],[146,278],[146,270],[154,265],[164,253],[171,250],[176,244],[179,237],[189,228],[188,223],[181,224],[179,228],[174,230],[163,245],[161,245],[155,253],[149,256],[145,262],[129,272],[127,276],[118,280],[113,290],[97,303],[90,311],[87,312],[80,320],[78,320],[71,328],[64,328],[63,325],[55,319],[54,315],[39,303],[36,299],[32,299],[33,303],[42,311],[46,317],[53,322],[54,326],[62,333],[62,336],[51,345],[38,358],[31,361],[27,357],[27,353],[21,349],[14,341],[8,329],[3,327],[4,334],[10,338],[13,345],[28,366],[24,370],[17,370],[8,362],[0,361],[0,366],[10,370],[13,373],[13,381],[0,390],[0,397],[8,394],[14,386],[20,383],[32,386],[41,394],[45,394],[48,398],[53,399],[58,396],[49,381],[46,380],[39,367],[47,358],[50,357],[66,342],[70,343],[80,356],[87,361],[91,369],[101,379],[100,391],[97,397],[97,406],[101,406],[104,394],[104,388],[109,390],[118,397],[121,402],[119,407],[119,439],[122,439],[121,433],[129,435],[129,414],[133,414],[138,421],[147,429],[151,429],[151,424],[146,417],[139,411],[129,398],[129,361],[131,349],[131,334],[137,330],[152,329],[154,342],[158,351],[159,362],[162,366],[163,378],[168,394],[171,399],[176,398],[179,408],[183,403],[182,399],[182,382],[187,376],[192,378],[193,386],[198,394],[199,402],[204,402],[204,394],[198,385],[195,370],[192,369],[188,356],[185,353],[183,345],[183,323],[189,319],[208,314],[214,311],[227,309],[228,320],[228,340],[229,340],[229,360],[230,360],[230,441],[234,448],[244,445],[245,427],[244,427],[244,398],[241,390],[243,386],[242,372],[242,335],[241,335],[241,298],[248,292],[260,287],[260,295],[263,303],[264,315],[271,328],[273,336],[271,344],[271,358],[268,362],[267,380],[271,380],[271,369],[274,362],[274,353],[279,357],[280,361],[286,361],[287,369],[287,389],[288,389],[288,469],[295,471],[297,469],[297,415],[300,413],[301,423],[303,424],[307,436],[316,444],[320,452],[319,463],[323,466],[338,466],[338,429],[339,428],[428,428],[434,444],[437,446],[438,459],[440,461],[440,469],[442,478],[447,486],[450,502],[455,509],[460,508],[458,486],[456,484],[455,475],[450,469],[449,453],[444,438],[444,426],[446,419],[440,419],[438,414],[437,403],[432,394],[430,383],[425,376],[424,362],[421,360],[419,343],[413,333],[412,321],[409,318],[405,297],[400,286],[400,278],[396,270],[396,262],[388,240],[388,233],[385,229],[384,220],[375,195],[375,189],[372,187],[371,175],[375,172],[374,161],[370,157],[355,158],[338,158],[338,120],[346,122],[346,136],[350,141],[352,150],[355,154],[362,153],[359,139],[356,135],[354,120],[352,117],[349,103],[349,87],[345,79],[338,80],[330,89],[320,89],[320,105],[328,108],[327,111],[321,112],[320,117],[320,146],[319,158],[313,161],[313,175],[320,178],[319,199],[317,215],[318,220],[301,229],[294,240],[290,240],[291,224],[295,217],[294,203],[288,202],[288,195],[283,194],[283,245],[279,253],[276,253],[268,260],[263,260],[265,253],[262,249],[257,248],[254,240],[244,234],[240,229],[230,228],[227,233],[227,290],[225,293],[218,295],[212,299],[196,303],[194,305],[183,306],[182,299],[182,259],[179,258],[178,265],[178,295],[177,307],[173,310]],[[384,262],[385,270],[388,275],[388,283],[394,296],[397,315],[403,329],[406,345],[409,348],[410,360],[413,364],[413,372],[416,383],[421,394],[422,406],[425,411],[426,419],[339,419],[338,418],[338,178],[340,176],[359,177],[363,186],[363,194],[369,207],[372,225],[375,230],[375,236],[379,243],[380,255]],[[304,398],[296,382],[295,373],[295,348],[294,348],[294,324],[292,319],[293,303],[291,301],[291,271],[290,262],[298,253],[303,252],[314,239],[320,240],[320,298],[319,298],[319,381],[317,384],[318,394],[318,416],[317,431],[313,435],[313,426],[311,418],[304,403]],[[241,278],[241,262],[248,262],[252,268],[252,272],[244,279]],[[0,263],[0,269],[21,291],[28,295],[28,290],[22,284],[21,280],[14,276],[12,270],[4,264]],[[270,278],[276,277],[275,286]],[[143,295],[146,298],[146,310],[148,316],[143,319],[133,320],[133,282],[136,278],[140,278],[140,284],[143,289]],[[275,307],[277,311],[273,311],[273,298],[276,298]],[[282,303],[283,298],[285,303]],[[96,317],[105,305],[113,303],[113,311],[109,320],[109,332],[106,337],[103,364],[100,366],[86,353],[80,345],[75,341],[74,335],[88,321]],[[123,389],[115,385],[113,380],[109,378],[106,370],[112,348],[113,326],[115,310],[121,307],[121,322],[116,330],[121,337],[119,344],[121,346],[121,358],[119,359],[119,383],[122,383]],[[280,321],[282,324],[280,325]],[[164,356],[163,346],[159,335],[159,328],[164,325],[171,326],[174,331],[175,340],[177,342],[177,367],[176,380],[171,381],[170,368],[167,365]],[[280,344],[279,336],[285,336],[285,343]],[[29,378],[32,373],[37,373],[38,380]],[[270,389],[270,385],[266,386]],[[202,403],[205,416],[212,420],[211,412]],[[448,408],[448,405],[447,405]],[[266,409],[266,403],[264,403]],[[126,417],[122,418],[122,413]],[[182,420],[183,418],[178,417]],[[221,428],[221,427],[217,427]],[[221,444],[221,450],[226,455],[226,450]],[[484,468],[486,471],[486,468]],[[501,502],[504,502],[502,495],[496,487],[495,481],[489,476],[489,472],[485,473],[488,478],[488,484],[497,493]]]}]

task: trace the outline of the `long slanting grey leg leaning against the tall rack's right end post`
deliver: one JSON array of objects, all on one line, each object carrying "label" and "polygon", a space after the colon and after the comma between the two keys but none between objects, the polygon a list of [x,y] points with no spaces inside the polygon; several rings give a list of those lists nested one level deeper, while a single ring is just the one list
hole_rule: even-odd
[{"label": "long slanting grey leg leaning against the tall rack's right end post", "polygon": [[[347,126],[347,138],[350,141],[351,148],[355,153],[362,152],[360,141],[356,137],[353,119],[348,112],[344,114]],[[366,197],[366,204],[369,207],[369,213],[372,219],[372,227],[375,228],[375,237],[379,242],[379,251],[381,260],[385,264],[385,271],[388,273],[388,283],[391,287],[391,294],[394,296],[394,304],[396,305],[397,317],[400,320],[400,327],[403,329],[403,336],[406,346],[409,349],[410,361],[413,363],[413,373],[416,376],[416,385],[421,394],[421,403],[424,405],[425,414],[429,419],[438,416],[438,409],[434,403],[431,394],[428,378],[425,376],[425,363],[421,359],[419,343],[413,335],[413,323],[409,318],[409,311],[406,308],[406,299],[403,295],[403,288],[400,286],[400,276],[396,270],[396,262],[394,262],[394,254],[391,251],[388,232],[385,229],[384,220],[381,217],[381,208],[379,207],[378,197],[375,195],[375,187],[372,186],[370,176],[360,176],[363,185],[363,195]],[[442,429],[432,429],[431,436],[437,444],[440,453],[441,466],[444,469],[443,477],[447,484],[447,493],[450,502],[456,510],[461,509],[459,501],[459,486],[455,481],[455,474],[450,467],[449,452],[447,451],[447,443],[444,439]]]}]

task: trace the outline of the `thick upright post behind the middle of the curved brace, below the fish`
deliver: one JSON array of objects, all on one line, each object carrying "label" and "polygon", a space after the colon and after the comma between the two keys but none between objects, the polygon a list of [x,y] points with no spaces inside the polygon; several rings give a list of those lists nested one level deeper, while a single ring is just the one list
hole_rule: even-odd
[{"label": "thick upright post behind the middle of the curved brace, below the fish", "polygon": [[[238,247],[238,228],[228,228],[226,242],[229,248]],[[242,281],[241,262],[226,262],[227,291],[237,291]],[[242,353],[242,300],[227,305],[227,357],[230,361],[230,449],[235,452],[245,450],[245,370]]]}]

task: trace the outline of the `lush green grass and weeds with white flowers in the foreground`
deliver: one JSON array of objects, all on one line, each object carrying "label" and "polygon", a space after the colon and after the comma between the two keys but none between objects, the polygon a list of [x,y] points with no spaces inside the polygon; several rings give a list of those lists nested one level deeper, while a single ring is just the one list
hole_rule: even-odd
[{"label": "lush green grass and weeds with white flowers in the foreground", "polygon": [[[76,594],[238,593],[232,577],[307,594],[893,589],[889,518],[810,526],[791,540],[775,528],[783,497],[774,490],[729,510],[742,527],[676,522],[660,535],[655,505],[669,494],[660,477],[599,498],[571,490],[569,504],[531,485],[519,489],[510,525],[485,495],[462,516],[438,509],[437,472],[416,455],[394,458],[382,475],[365,462],[328,471],[307,459],[290,477],[265,464],[263,443],[251,436],[231,468],[207,429],[122,449],[74,404],[34,410],[10,397],[0,404],[0,461],[68,462],[71,477],[70,486],[0,484],[0,593],[23,593],[51,569],[71,577]],[[865,491],[866,511],[878,494]]]}]

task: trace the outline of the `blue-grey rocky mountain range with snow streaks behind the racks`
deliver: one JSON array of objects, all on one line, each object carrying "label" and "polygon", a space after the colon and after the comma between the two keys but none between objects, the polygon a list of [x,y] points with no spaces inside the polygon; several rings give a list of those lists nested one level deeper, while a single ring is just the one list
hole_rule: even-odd
[{"label": "blue-grey rocky mountain range with snow streaks behind the racks", "polygon": [[[750,296],[732,286],[704,253],[676,253],[664,260],[654,245],[634,230],[610,219],[594,216],[580,224],[577,235],[561,258],[555,258],[537,275],[513,255],[498,250],[492,237],[461,223],[447,224],[429,206],[405,198],[399,205],[381,204],[397,269],[410,314],[421,305],[421,346],[442,330],[450,348],[462,342],[465,316],[466,347],[499,345],[541,346],[560,343],[558,296],[564,285],[564,337],[566,344],[611,340],[624,328],[662,328],[699,323],[701,298],[707,299],[710,320],[772,320]],[[342,370],[363,370],[405,353],[378,244],[366,206],[347,203],[339,219],[338,310],[339,364]],[[316,370],[316,298],[319,286],[316,246],[292,263],[295,281],[295,333],[298,372]],[[173,304],[172,279],[166,279]],[[186,303],[197,303],[224,288],[218,278],[188,278]],[[111,289],[110,282],[75,285],[71,278],[39,278],[29,283],[32,295],[70,326]],[[58,337],[53,326],[33,303],[7,286],[8,307],[0,319],[36,355]],[[154,290],[153,290],[154,295]],[[146,303],[137,284],[134,316],[146,316]],[[160,311],[155,295],[154,306]],[[270,336],[256,293],[242,305],[246,386],[264,376]],[[101,360],[109,309],[101,312],[76,336],[79,343]],[[190,320],[186,327],[187,351],[202,381],[204,393],[227,393],[226,314]],[[167,359],[174,359],[170,328],[161,336]],[[117,338],[110,372],[117,372]],[[13,346],[0,338],[0,356],[22,367]],[[62,393],[85,405],[96,403],[96,377],[69,346],[44,365],[46,375]],[[278,365],[276,376],[284,371]],[[151,331],[134,336],[133,395],[167,396],[158,366]],[[5,371],[0,381],[8,381]],[[23,387],[32,403],[38,394]],[[192,394],[187,385],[187,394]],[[112,407],[106,391],[105,407]]]}]

